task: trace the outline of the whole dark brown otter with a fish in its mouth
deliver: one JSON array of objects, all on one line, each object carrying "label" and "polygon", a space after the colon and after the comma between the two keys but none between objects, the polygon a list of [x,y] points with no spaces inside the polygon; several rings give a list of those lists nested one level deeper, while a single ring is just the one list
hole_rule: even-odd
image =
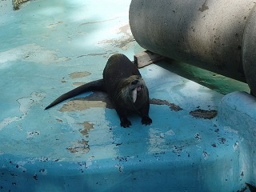
[{"label": "whole dark brown otter with a fish in its mouth", "polygon": [[146,84],[137,67],[124,54],[114,54],[109,58],[103,70],[102,79],[86,83],[62,94],[46,106],[46,110],[59,102],[90,90],[102,90],[109,94],[120,118],[121,126],[131,126],[127,119],[129,111],[137,111],[142,116],[142,124],[151,124],[149,92]]}]

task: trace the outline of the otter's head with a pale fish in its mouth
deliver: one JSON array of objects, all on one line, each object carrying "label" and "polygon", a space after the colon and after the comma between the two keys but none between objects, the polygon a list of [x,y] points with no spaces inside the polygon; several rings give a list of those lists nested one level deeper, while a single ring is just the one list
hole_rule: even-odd
[{"label": "otter's head with a pale fish in its mouth", "polygon": [[136,102],[145,92],[146,84],[141,76],[132,75],[122,81],[120,97],[126,102]]}]

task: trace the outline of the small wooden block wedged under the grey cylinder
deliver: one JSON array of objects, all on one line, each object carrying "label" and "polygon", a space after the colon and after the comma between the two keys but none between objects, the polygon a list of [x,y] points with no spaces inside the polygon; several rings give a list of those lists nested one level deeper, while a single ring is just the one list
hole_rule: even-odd
[{"label": "small wooden block wedged under the grey cylinder", "polygon": [[159,62],[165,59],[164,56],[159,54],[154,54],[149,50],[143,51],[139,54],[134,55],[134,64],[138,66],[138,68],[142,68],[144,66],[148,66],[153,62]]}]

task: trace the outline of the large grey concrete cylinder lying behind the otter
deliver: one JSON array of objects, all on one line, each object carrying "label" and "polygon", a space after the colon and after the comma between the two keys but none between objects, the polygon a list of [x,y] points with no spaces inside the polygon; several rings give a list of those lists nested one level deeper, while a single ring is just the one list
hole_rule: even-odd
[{"label": "large grey concrete cylinder lying behind the otter", "polygon": [[130,29],[146,50],[246,82],[243,34],[254,5],[254,0],[133,0]]}]

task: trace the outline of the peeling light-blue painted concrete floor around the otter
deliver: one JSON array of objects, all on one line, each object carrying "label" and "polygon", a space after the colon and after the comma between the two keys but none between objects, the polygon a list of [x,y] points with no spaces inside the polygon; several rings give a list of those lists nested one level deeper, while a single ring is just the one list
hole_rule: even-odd
[{"label": "peeling light-blue painted concrete floor around the otter", "polygon": [[[79,83],[102,78],[111,54],[132,59],[142,51],[130,34],[129,5],[44,0],[14,12],[0,2],[0,191],[238,191],[255,184],[254,110],[232,110],[234,120],[230,112],[254,98],[223,98],[164,62],[141,69],[150,98],[183,110],[152,104],[150,126],[134,115],[121,128],[101,101],[44,110]],[[194,118],[197,109],[221,112]],[[237,121],[240,111],[248,124]]]}]

